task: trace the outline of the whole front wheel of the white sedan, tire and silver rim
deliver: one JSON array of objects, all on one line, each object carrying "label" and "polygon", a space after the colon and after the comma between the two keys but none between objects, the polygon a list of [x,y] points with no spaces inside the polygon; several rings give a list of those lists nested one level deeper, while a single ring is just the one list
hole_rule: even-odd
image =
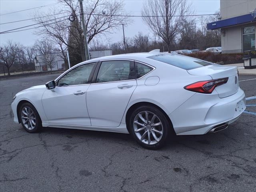
[{"label": "whole front wheel of the white sedan, tire and silver rim", "polygon": [[27,132],[37,133],[42,130],[41,118],[31,103],[26,102],[20,106],[19,118],[23,128]]}]

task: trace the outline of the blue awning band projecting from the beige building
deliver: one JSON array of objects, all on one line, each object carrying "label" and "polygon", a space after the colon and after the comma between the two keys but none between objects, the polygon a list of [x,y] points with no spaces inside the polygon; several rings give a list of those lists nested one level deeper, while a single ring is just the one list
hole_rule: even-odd
[{"label": "blue awning band projecting from the beige building", "polygon": [[238,25],[238,24],[243,24],[243,23],[249,23],[249,22],[256,22],[255,16],[251,13],[208,23],[207,29],[214,30],[214,29],[219,29],[219,28],[223,28],[223,27],[228,27],[228,26],[233,26],[233,25]]}]

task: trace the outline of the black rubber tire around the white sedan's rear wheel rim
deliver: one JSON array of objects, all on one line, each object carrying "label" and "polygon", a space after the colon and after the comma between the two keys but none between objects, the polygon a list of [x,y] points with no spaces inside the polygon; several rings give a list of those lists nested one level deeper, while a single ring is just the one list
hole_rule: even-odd
[{"label": "black rubber tire around the white sedan's rear wheel rim", "polygon": [[[155,114],[157,117],[158,117],[158,120],[160,120],[159,122],[162,123],[162,137],[160,138],[160,140],[155,143],[155,144],[146,144],[146,140],[141,141],[138,136],[136,136],[136,132],[134,130],[134,120],[135,120],[135,117],[139,114],[139,113],[143,113],[147,111],[148,113],[153,113]],[[151,114],[151,115],[153,115]],[[170,134],[172,132],[172,125],[169,123],[168,119],[166,118],[165,114],[158,108],[154,107],[154,106],[140,106],[138,108],[136,108],[132,114],[130,115],[130,120],[128,122],[128,128],[130,130],[130,133],[132,134],[132,136],[134,137],[134,139],[136,140],[136,142],[138,142],[138,144],[140,144],[142,147],[144,148],[147,148],[147,149],[151,149],[151,150],[156,150],[156,149],[159,149],[161,147],[163,147],[167,141],[168,138],[170,138]],[[146,125],[146,124],[145,124]],[[136,126],[136,125],[135,125]],[[135,127],[136,128],[136,127]],[[138,127],[137,127],[138,128]],[[137,129],[136,128],[136,129]],[[140,128],[143,128],[142,126],[140,126]],[[152,128],[152,127],[151,127]],[[137,129],[138,130],[138,129]],[[144,132],[146,132],[145,130],[147,129],[144,129],[142,130],[142,133],[140,135],[142,135]],[[150,131],[150,134],[152,134],[154,129],[151,129],[149,130],[148,129],[148,132]],[[143,132],[144,131],[144,132]],[[155,132],[154,132],[155,133]],[[138,134],[138,132],[137,132]],[[152,137],[152,136],[150,136]],[[153,138],[154,139],[154,138]]]}]

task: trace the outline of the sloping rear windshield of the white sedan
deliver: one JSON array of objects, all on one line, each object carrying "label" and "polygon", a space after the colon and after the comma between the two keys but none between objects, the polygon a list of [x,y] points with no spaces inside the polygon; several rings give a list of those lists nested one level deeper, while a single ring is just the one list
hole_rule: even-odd
[{"label": "sloping rear windshield of the white sedan", "polygon": [[203,60],[198,60],[192,57],[173,55],[173,54],[160,54],[148,57],[157,61],[161,61],[185,70],[195,69],[203,66],[210,65],[210,63]]}]

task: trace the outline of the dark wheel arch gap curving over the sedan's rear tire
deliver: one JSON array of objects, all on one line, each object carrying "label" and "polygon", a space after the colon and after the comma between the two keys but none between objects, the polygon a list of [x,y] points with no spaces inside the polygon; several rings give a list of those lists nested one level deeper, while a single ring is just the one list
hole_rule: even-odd
[{"label": "dark wheel arch gap curving over the sedan's rear tire", "polygon": [[174,131],[170,117],[166,114],[166,112],[162,108],[160,108],[158,105],[151,103],[151,102],[137,102],[137,103],[133,104],[132,106],[130,106],[130,108],[127,110],[126,116],[125,116],[125,122],[126,122],[126,128],[129,133],[130,133],[129,117],[132,114],[132,111],[140,106],[154,106],[154,107],[158,108],[164,114],[164,116],[166,116],[166,119],[168,120],[168,123],[170,125],[172,133],[176,134],[176,132]]}]

